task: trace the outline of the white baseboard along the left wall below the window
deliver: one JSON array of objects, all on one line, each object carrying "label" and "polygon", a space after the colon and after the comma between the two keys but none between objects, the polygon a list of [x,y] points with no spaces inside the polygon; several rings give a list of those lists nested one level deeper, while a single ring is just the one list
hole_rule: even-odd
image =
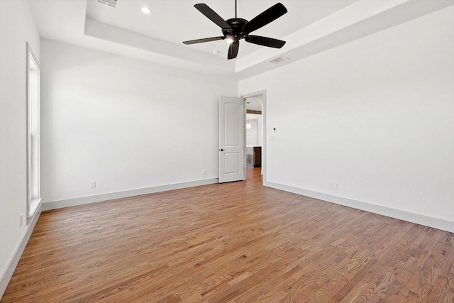
[{"label": "white baseboard along the left wall below the window", "polygon": [[1,297],[3,297],[6,287],[8,287],[11,277],[13,277],[14,270],[16,270],[16,266],[18,265],[19,260],[21,259],[23,250],[26,248],[28,240],[30,240],[31,233],[33,233],[33,229],[35,229],[36,222],[38,222],[38,219],[41,215],[41,210],[42,210],[41,207],[42,206],[38,205],[38,208],[36,209],[33,217],[31,217],[31,220],[27,219],[27,222],[29,222],[29,223],[28,223],[26,232],[23,234],[23,237],[21,238],[21,241],[19,242],[18,246],[16,247],[16,250],[14,250],[14,254],[11,257],[11,260],[9,260],[9,264],[6,267],[6,270],[1,275],[0,299],[1,299]]}]

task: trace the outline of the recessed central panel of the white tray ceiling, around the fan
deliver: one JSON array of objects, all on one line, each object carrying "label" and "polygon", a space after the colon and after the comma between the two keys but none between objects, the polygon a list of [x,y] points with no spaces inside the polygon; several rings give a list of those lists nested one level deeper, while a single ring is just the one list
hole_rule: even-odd
[{"label": "recessed central panel of the white tray ceiling, around the fan", "polygon": [[[255,35],[284,38],[296,29],[343,9],[358,0],[306,0],[283,1],[289,11],[282,18],[255,31]],[[119,0],[117,9],[110,9],[95,0],[87,2],[87,18],[125,28],[128,31],[148,35],[151,38],[174,43],[175,47],[191,48],[212,55],[219,50],[219,57],[226,59],[228,45],[225,41],[213,41],[197,45],[183,45],[184,40],[208,38],[222,35],[221,28],[194,8],[194,4],[204,2],[224,20],[235,17],[235,0]],[[277,0],[238,0],[237,16],[251,20]],[[322,4],[323,5],[320,5]],[[153,13],[145,15],[140,8],[147,6]],[[240,43],[240,55],[258,50],[260,45]]]}]

